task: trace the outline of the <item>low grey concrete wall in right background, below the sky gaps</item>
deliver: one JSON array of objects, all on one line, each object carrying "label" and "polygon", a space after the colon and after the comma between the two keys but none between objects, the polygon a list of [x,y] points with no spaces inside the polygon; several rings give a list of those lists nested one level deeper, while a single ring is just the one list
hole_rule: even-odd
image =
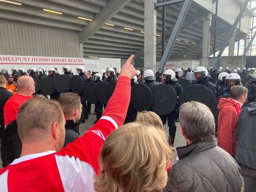
[{"label": "low grey concrete wall in right background, below the sky gaps", "polygon": [[[214,58],[209,58],[210,63],[214,60]],[[237,67],[242,68],[242,56],[223,56],[220,58],[220,66],[230,67],[232,70],[236,69]]]}]

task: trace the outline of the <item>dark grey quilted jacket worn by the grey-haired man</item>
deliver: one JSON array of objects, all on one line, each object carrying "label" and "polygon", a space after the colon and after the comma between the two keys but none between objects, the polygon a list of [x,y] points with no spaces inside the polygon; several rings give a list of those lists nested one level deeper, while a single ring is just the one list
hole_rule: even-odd
[{"label": "dark grey quilted jacket worn by the grey-haired man", "polygon": [[177,153],[180,161],[168,173],[168,184],[164,191],[241,191],[238,164],[213,142],[180,147]]}]

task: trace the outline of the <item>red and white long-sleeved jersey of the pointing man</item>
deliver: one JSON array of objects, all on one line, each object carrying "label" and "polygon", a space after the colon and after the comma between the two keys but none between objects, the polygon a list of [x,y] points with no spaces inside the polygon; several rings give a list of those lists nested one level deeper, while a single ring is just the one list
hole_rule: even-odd
[{"label": "red and white long-sleeved jersey of the pointing man", "polygon": [[0,191],[94,191],[99,154],[106,137],[124,123],[131,81],[120,76],[100,120],[60,152],[47,151],[15,159],[0,170]]}]

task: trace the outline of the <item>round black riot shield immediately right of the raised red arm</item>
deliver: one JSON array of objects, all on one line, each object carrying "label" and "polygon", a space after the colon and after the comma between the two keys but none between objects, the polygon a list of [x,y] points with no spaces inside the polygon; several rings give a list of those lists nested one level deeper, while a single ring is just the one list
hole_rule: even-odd
[{"label": "round black riot shield immediately right of the raised red arm", "polygon": [[146,84],[135,84],[131,90],[131,105],[137,111],[148,111],[152,108],[153,94]]}]

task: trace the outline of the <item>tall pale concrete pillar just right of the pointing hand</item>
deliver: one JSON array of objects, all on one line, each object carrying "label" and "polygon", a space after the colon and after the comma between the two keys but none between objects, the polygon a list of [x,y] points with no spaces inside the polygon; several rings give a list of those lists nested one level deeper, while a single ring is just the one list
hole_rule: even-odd
[{"label": "tall pale concrete pillar just right of the pointing hand", "polygon": [[144,1],[144,68],[154,69],[156,65],[157,0]]}]

